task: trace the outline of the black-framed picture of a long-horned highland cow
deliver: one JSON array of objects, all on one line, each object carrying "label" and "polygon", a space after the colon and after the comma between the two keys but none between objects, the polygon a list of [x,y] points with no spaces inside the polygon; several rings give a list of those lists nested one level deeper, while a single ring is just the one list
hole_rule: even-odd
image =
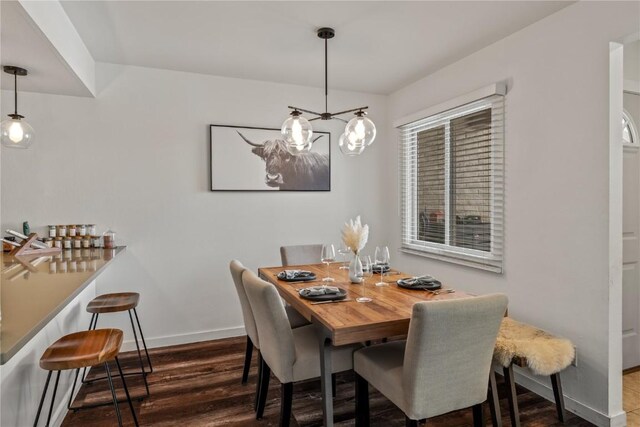
[{"label": "black-framed picture of a long-horned highland cow", "polygon": [[280,129],[210,125],[211,191],[331,191],[331,134],[290,154]]}]

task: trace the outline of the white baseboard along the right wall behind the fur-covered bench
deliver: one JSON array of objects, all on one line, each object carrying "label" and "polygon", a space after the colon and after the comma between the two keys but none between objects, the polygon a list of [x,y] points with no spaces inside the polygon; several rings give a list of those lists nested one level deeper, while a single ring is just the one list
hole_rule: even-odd
[{"label": "white baseboard along the right wall behind the fur-covered bench", "polygon": [[[517,368],[516,368],[517,369]],[[551,387],[537,381],[534,377],[525,375],[523,371],[514,369],[516,382],[521,386],[531,390],[535,394],[544,397],[550,402],[555,402]],[[564,396],[565,409],[599,427],[624,427],[627,425],[627,413],[621,412],[613,416],[608,416],[593,409],[570,396]]]}]

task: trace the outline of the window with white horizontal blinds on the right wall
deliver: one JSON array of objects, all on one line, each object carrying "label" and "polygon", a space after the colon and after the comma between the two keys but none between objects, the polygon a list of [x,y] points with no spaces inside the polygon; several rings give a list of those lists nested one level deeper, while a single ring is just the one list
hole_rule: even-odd
[{"label": "window with white horizontal blinds on the right wall", "polygon": [[403,251],[502,271],[503,118],[493,95],[399,126]]}]

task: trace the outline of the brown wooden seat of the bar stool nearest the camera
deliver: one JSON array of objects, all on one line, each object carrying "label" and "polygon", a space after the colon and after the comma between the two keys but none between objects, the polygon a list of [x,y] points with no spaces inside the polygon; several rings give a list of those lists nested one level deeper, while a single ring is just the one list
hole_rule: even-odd
[{"label": "brown wooden seat of the bar stool nearest the camera", "polygon": [[65,335],[47,348],[40,367],[47,371],[84,368],[114,360],[122,346],[119,329],[96,329]]}]

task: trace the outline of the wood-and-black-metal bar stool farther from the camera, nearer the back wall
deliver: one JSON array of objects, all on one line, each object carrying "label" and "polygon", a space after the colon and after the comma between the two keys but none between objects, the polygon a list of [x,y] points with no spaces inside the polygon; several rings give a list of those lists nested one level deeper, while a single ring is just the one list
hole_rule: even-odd
[{"label": "wood-and-black-metal bar stool farther from the camera, nearer the back wall", "polygon": [[[147,350],[147,344],[144,341],[144,335],[142,333],[142,328],[140,327],[140,319],[138,318],[138,312],[136,311],[136,307],[140,302],[140,294],[137,292],[120,292],[113,294],[104,294],[95,297],[93,300],[87,304],[87,311],[91,313],[91,321],[89,322],[89,330],[94,330],[96,325],[98,324],[98,316],[103,313],[119,313],[126,311],[129,313],[129,320],[131,321],[131,329],[133,330],[133,338],[136,343],[136,349],[138,350],[138,360],[140,362],[140,372],[128,372],[125,375],[138,375],[142,374],[144,379],[144,386],[147,391],[145,397],[149,396],[149,384],[147,383],[147,374],[153,372],[153,365],[151,364],[151,358],[149,357],[149,351]],[[131,314],[133,312],[133,315]],[[138,326],[138,331],[140,332],[140,338],[142,339],[142,346],[144,348],[144,352],[146,355],[147,363],[149,365],[149,369],[146,370],[144,367],[144,362],[142,361],[142,352],[140,351],[140,344],[138,342],[138,334],[136,332],[136,324],[133,322],[133,317],[136,318],[136,324]],[[86,369],[82,372],[82,383],[89,384],[93,381],[103,380],[106,377],[93,378],[90,380],[85,379]]]}]

